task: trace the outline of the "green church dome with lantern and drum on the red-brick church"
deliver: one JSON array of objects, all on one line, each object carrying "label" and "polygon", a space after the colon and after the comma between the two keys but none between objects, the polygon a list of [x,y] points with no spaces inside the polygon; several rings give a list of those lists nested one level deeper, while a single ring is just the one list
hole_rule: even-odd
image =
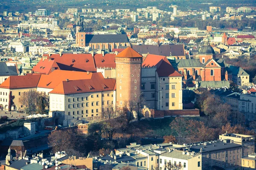
[{"label": "green church dome with lantern and drum on the red-brick church", "polygon": [[209,43],[209,39],[204,40],[204,46],[200,49],[198,57],[201,63],[206,63],[209,59],[215,59],[215,51]]}]

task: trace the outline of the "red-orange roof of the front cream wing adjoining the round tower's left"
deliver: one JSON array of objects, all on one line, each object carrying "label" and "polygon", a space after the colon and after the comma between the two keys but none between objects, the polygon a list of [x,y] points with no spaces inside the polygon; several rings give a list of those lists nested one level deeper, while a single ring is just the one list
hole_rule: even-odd
[{"label": "red-orange roof of the front cream wing adjoining the round tower's left", "polygon": [[115,79],[104,79],[102,74],[99,74],[93,75],[91,79],[62,81],[50,93],[74,94],[93,91],[113,91],[115,83]]}]

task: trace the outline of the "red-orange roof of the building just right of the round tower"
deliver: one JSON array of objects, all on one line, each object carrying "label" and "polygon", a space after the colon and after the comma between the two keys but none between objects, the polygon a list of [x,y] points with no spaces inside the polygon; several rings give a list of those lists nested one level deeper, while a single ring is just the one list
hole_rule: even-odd
[{"label": "red-orange roof of the building just right of the round tower", "polygon": [[148,54],[144,57],[142,66],[157,67],[156,71],[159,77],[182,77],[181,74],[175,71],[165,56]]}]

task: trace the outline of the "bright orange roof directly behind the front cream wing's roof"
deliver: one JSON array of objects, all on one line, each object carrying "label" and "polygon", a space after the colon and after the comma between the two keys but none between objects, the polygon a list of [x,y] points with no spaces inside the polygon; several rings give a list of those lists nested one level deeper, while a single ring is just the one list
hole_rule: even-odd
[{"label": "bright orange roof directly behind the front cream wing's roof", "polygon": [[55,88],[62,81],[78,80],[78,79],[91,79],[93,74],[101,73],[89,73],[80,71],[64,71],[55,70],[49,75],[41,75],[40,81],[38,82],[38,88]]}]

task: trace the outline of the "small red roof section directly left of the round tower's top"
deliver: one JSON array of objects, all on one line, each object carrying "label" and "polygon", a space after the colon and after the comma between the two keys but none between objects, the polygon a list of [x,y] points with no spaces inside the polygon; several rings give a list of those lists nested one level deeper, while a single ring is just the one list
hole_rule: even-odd
[{"label": "small red roof section directly left of the round tower's top", "polygon": [[94,55],[94,61],[97,68],[116,68],[116,62],[115,62],[116,54],[105,54],[104,57],[102,54],[95,54]]}]

